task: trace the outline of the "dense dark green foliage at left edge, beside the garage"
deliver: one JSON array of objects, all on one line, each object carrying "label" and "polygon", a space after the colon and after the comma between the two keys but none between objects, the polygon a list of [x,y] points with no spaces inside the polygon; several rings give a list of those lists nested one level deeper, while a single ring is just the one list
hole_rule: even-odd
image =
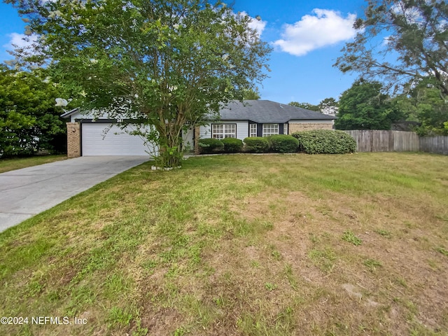
[{"label": "dense dark green foliage at left edge, beside the garage", "polygon": [[0,157],[66,150],[66,127],[56,97],[55,87],[38,71],[0,68]]}]

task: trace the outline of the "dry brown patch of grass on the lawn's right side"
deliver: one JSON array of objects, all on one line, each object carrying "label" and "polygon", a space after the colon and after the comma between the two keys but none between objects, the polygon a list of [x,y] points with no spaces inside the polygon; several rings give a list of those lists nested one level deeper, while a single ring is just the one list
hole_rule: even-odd
[{"label": "dry brown patch of grass on the lawn's right side", "polygon": [[[294,274],[290,281],[313,311],[296,311],[295,322],[304,330],[325,325],[325,318],[365,330],[382,323],[393,333],[447,327],[447,257],[435,251],[444,223],[435,221],[434,211],[426,213],[424,202],[409,208],[406,200],[388,197],[335,193],[316,200],[267,190],[243,204],[239,216],[273,223],[260,245],[275,250],[268,258],[281,260]],[[362,243],[344,241],[344,232]],[[247,251],[248,258],[262,258],[253,248]],[[281,265],[271,267],[285,272]]]}]

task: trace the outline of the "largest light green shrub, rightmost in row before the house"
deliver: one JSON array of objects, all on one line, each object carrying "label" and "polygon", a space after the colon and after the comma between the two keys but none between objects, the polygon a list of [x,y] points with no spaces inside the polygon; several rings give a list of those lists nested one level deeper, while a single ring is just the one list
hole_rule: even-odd
[{"label": "largest light green shrub, rightmost in row before the house", "polygon": [[356,141],[342,131],[314,130],[295,132],[300,151],[308,154],[344,154],[356,151]]}]

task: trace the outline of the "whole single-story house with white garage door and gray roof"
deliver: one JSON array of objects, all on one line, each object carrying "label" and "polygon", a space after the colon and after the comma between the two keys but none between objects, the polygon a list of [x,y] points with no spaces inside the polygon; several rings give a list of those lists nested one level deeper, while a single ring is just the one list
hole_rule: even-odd
[{"label": "whole single-story house with white garage door and gray roof", "polygon": [[[232,102],[220,111],[221,119],[210,118],[207,125],[182,134],[186,148],[197,149],[197,139],[268,137],[304,130],[332,130],[335,117],[269,100]],[[73,109],[62,115],[67,123],[68,156],[148,155],[157,148],[145,146],[143,139],[127,134],[113,123],[116,120],[94,120],[88,113]],[[133,125],[129,126],[133,130]],[[107,132],[106,132],[107,130]]]}]

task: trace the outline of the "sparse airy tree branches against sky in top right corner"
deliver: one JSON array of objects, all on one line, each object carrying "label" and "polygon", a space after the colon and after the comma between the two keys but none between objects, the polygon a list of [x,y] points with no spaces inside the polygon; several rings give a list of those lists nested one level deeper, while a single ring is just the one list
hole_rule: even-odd
[{"label": "sparse airy tree branches against sky in top right corner", "polygon": [[343,72],[390,85],[434,78],[448,94],[448,3],[440,0],[368,0],[358,34],[335,63]]}]

